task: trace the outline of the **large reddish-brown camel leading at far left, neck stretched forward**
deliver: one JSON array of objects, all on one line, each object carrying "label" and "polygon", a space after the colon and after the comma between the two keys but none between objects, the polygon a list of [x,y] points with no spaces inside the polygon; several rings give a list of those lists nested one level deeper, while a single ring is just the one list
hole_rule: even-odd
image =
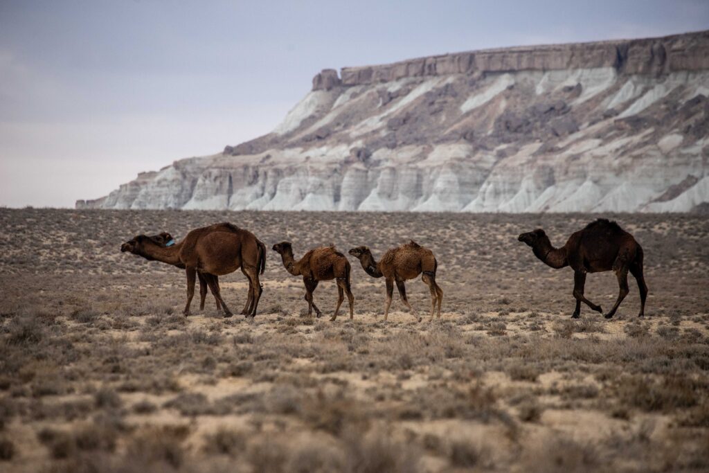
[{"label": "large reddish-brown camel leading at far left, neck stretched forward", "polygon": [[[169,233],[167,235],[169,236]],[[149,261],[157,260],[185,269],[185,316],[189,316],[197,274],[203,276],[204,282],[223,308],[225,317],[232,316],[221,296],[218,277],[241,268],[249,279],[249,294],[242,314],[252,317],[256,315],[263,291],[259,283],[259,270],[263,274],[266,267],[266,246],[248,230],[231,223],[217,223],[191,230],[182,241],[169,246],[167,243],[161,245],[159,241],[146,235],[137,235],[121,245],[121,252],[131,252]],[[203,291],[206,294],[206,289]]]}]

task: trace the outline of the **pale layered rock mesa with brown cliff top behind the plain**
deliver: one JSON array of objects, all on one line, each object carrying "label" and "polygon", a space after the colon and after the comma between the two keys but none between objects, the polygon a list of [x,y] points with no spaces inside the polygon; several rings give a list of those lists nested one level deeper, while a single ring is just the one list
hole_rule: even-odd
[{"label": "pale layered rock mesa with brown cliff top behind the plain", "polygon": [[702,211],[709,32],[325,69],[272,133],[77,208]]}]

